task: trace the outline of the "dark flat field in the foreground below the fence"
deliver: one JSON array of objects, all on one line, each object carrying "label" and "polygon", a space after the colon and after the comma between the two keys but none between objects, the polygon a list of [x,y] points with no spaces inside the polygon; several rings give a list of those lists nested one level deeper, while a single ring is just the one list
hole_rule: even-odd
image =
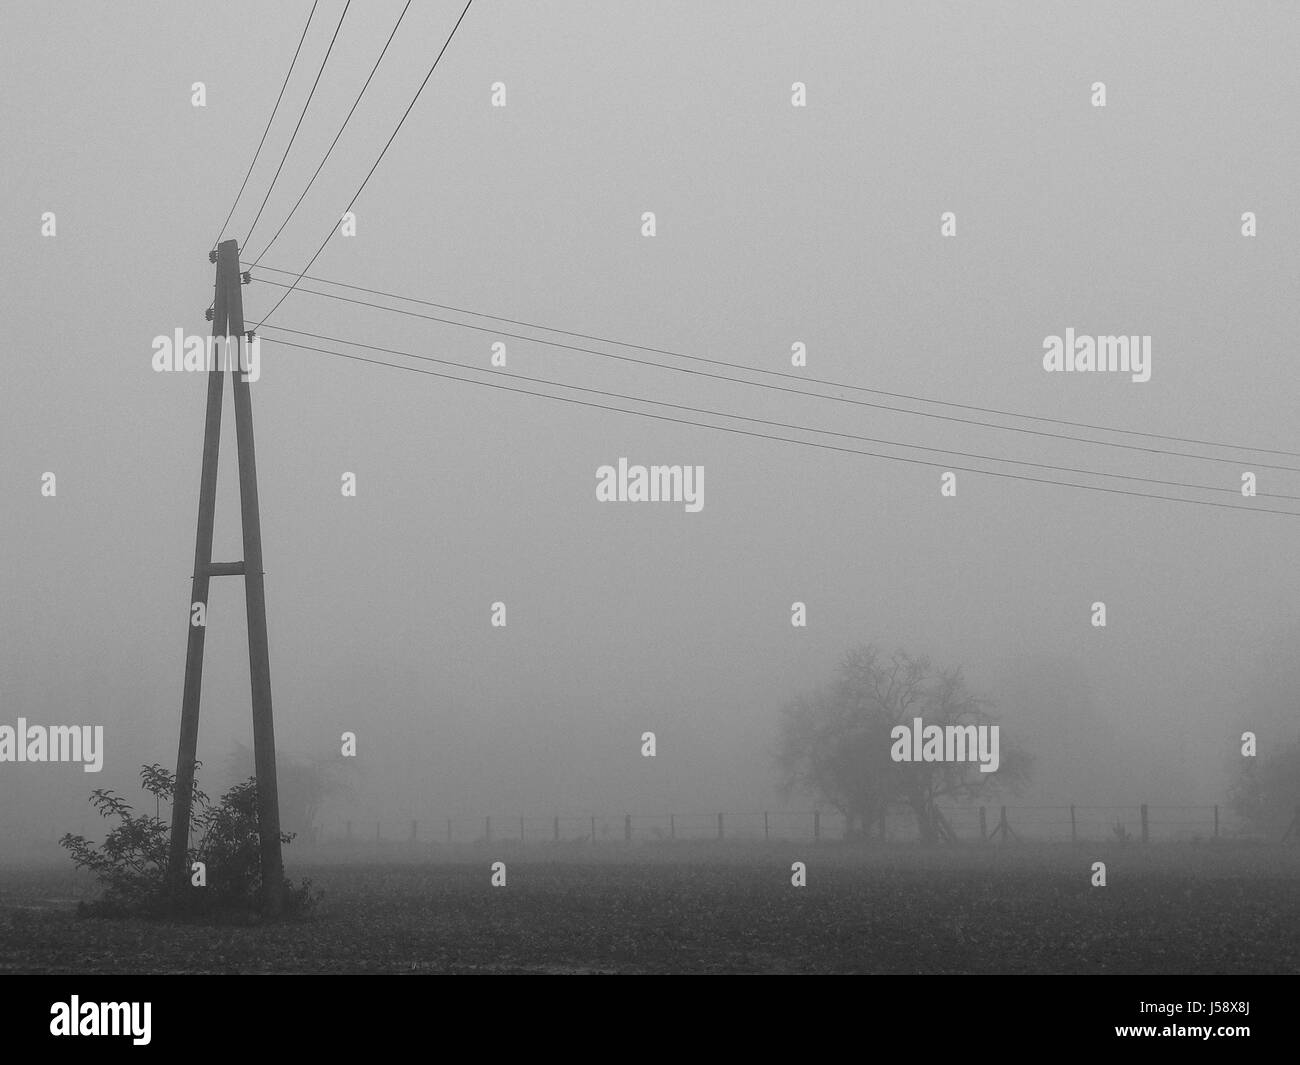
[{"label": "dark flat field in the foreground below the fence", "polygon": [[[84,874],[0,869],[0,971],[1300,973],[1300,848],[498,844],[286,857],[324,899],[306,921],[263,927],[82,918],[77,901],[96,891]],[[506,887],[490,884],[494,861]],[[794,861],[807,887],[790,884]],[[1106,887],[1091,886],[1095,861]]]}]

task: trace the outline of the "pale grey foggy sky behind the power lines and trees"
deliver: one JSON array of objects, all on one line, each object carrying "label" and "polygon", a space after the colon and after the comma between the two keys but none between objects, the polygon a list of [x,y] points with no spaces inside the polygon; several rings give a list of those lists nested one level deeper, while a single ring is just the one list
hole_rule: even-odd
[{"label": "pale grey foggy sky behind the power lines and trees", "polygon": [[[0,723],[107,737],[98,776],[0,765],[0,850],[98,828],[92,787],[140,795],[142,763],[174,766],[205,380],[152,372],[150,345],[209,332],[207,251],[308,8],[0,14]],[[352,5],[254,254],[399,9]],[[339,10],[321,4],[226,237],[243,241]],[[266,264],[306,264],[459,10],[413,5]],[[832,381],[1300,450],[1297,46],[1282,4],[478,0],[358,200],[358,235],[311,273],[783,372],[803,341],[807,373]],[[250,322],[281,291],[246,287]],[[482,367],[494,339],[307,294],[272,321]],[[1150,334],[1150,381],[1044,373],[1043,338],[1070,326]],[[1231,489],[1254,469],[1261,492],[1300,493],[1257,458],[1071,445],[507,345],[529,377]],[[252,395],[277,740],[329,754],[355,731],[359,821],[771,806],[780,705],[859,642],[963,664],[1037,757],[1031,800],[1222,801],[1243,728],[1261,753],[1295,731],[1297,519],[971,473],[942,499],[932,467],[269,341]],[[225,407],[218,560],[242,557]],[[597,467],[620,456],[703,466],[703,510],[597,502]],[[489,625],[498,599],[506,629]],[[807,629],[789,624],[796,599]],[[251,736],[238,579],[213,580],[208,628],[199,757],[218,766]]]}]

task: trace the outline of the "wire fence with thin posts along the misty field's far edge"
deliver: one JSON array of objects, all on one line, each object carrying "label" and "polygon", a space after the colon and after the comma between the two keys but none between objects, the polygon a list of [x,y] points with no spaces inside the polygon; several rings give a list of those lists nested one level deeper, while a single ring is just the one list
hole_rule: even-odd
[{"label": "wire fence with thin posts along the misty field's far edge", "polygon": [[[915,840],[923,836],[909,808],[890,808],[857,836],[837,810],[758,810],[696,814],[588,814],[563,817],[395,818],[333,823],[313,834],[321,845],[675,843],[702,840],[835,841],[854,837]],[[949,843],[1110,841],[1150,843],[1248,839],[1254,834],[1219,805],[1154,806],[941,806],[936,839]]]}]

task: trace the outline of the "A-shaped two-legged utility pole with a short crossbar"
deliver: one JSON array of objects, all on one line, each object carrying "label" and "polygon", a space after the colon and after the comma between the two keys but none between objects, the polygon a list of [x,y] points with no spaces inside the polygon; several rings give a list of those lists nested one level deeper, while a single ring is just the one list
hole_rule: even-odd
[{"label": "A-shaped two-legged utility pole with a short crossbar", "polygon": [[[211,257],[211,256],[209,256]],[[238,350],[244,333],[239,244],[225,241],[216,251],[216,299],[212,335],[233,337]],[[216,347],[216,346],[214,346]],[[257,830],[261,843],[263,909],[280,913],[283,902],[283,860],[280,853],[280,795],[276,785],[276,730],[270,713],[270,655],[266,648],[266,593],[261,570],[261,519],[257,508],[257,463],[252,437],[252,397],[238,367],[231,367],[235,402],[235,443],[239,451],[239,511],[243,524],[243,562],[212,560],[212,524],[217,502],[217,453],[221,443],[221,402],[225,367],[214,360],[208,369],[208,412],[203,430],[203,472],[199,477],[199,528],[194,545],[194,590],[190,638],[185,655],[185,693],[181,702],[181,743],[176,759],[176,801],[172,806],[169,876],[185,891],[190,870],[186,853],[194,766],[199,745],[199,694],[203,687],[203,637],[207,624],[195,625],[192,607],[208,603],[209,579],[243,576],[248,612],[248,672],[252,687],[252,741],[257,778]],[[204,616],[207,622],[207,616]]]}]

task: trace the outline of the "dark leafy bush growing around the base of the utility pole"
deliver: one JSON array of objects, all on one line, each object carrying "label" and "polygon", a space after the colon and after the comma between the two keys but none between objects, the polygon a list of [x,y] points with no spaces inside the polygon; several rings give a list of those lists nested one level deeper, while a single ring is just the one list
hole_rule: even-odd
[{"label": "dark leafy bush growing around the base of the utility pole", "polygon": [[[198,767],[198,763],[196,763]],[[164,766],[140,769],[140,787],[157,800],[172,804],[176,776]],[[91,805],[107,819],[117,819],[104,843],[95,847],[84,836],[66,834],[58,843],[78,869],[90,869],[104,886],[104,895],[81,912],[101,917],[195,915],[256,919],[261,912],[261,850],[257,831],[257,783],[235,784],[213,804],[194,784],[190,840],[186,850],[185,889],[168,884],[170,824],[160,817],[135,814],[131,805],[110,789],[96,788]],[[282,832],[281,843],[290,843]],[[207,886],[195,887],[190,870],[203,862]],[[311,880],[294,887],[283,883],[282,915],[309,912],[317,901]]]}]

